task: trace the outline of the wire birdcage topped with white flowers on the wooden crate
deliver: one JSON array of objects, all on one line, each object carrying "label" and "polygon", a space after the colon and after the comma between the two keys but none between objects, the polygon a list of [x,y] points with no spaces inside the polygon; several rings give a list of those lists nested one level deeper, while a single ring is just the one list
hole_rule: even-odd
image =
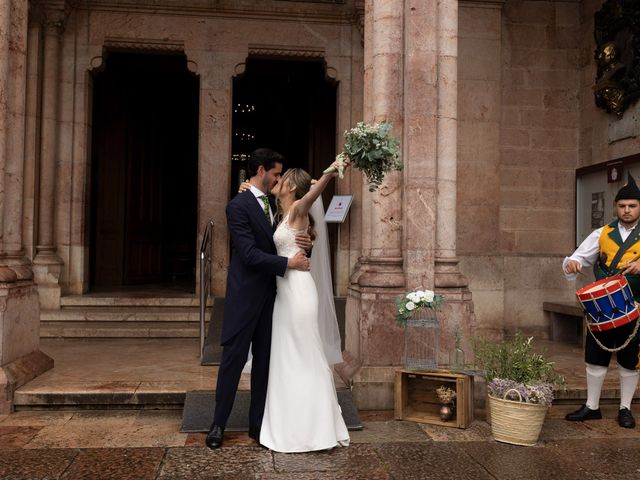
[{"label": "wire birdcage topped with white flowers on the wooden crate", "polygon": [[404,327],[404,365],[408,369],[438,364],[439,324],[435,311],[444,297],[432,290],[416,290],[396,298],[396,320]]}]

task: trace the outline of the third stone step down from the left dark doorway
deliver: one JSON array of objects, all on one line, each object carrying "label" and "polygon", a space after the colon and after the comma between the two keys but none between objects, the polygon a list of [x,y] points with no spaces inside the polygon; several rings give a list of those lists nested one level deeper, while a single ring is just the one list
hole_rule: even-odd
[{"label": "third stone step down from the left dark doorway", "polygon": [[154,321],[43,322],[40,338],[198,338],[200,323]]}]

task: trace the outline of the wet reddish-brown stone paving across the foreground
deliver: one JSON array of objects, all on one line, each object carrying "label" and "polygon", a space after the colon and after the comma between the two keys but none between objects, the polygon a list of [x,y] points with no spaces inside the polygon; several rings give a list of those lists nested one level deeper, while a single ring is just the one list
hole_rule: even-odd
[{"label": "wet reddish-brown stone paving across the foreground", "polygon": [[[637,406],[635,407],[637,409]],[[553,407],[535,447],[495,442],[490,426],[466,430],[362,412],[352,444],[279,454],[244,433],[216,451],[179,433],[178,411],[18,412],[0,416],[1,479],[621,479],[640,478],[640,427],[570,423]]]}]

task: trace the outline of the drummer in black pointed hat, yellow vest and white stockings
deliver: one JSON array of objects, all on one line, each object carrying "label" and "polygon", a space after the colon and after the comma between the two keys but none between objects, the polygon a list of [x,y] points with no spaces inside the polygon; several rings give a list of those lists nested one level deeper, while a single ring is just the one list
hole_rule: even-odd
[{"label": "drummer in black pointed hat, yellow vest and white stockings", "polygon": [[[593,231],[573,255],[566,257],[562,269],[568,280],[575,280],[583,268],[593,266],[596,280],[616,274],[623,274],[634,299],[640,301],[640,189],[629,174],[627,184],[620,189],[614,199],[617,219]],[[587,364],[587,403],[565,417],[570,421],[595,420],[600,413],[600,392],[613,349],[623,345],[634,332],[634,320],[626,325],[603,332],[587,333],[584,352]],[[631,401],[638,385],[640,368],[640,335],[616,353],[620,372],[620,409],[618,424],[624,428],[634,428],[636,421],[631,414]],[[598,343],[600,343],[599,346]],[[604,348],[603,348],[604,347]]]}]

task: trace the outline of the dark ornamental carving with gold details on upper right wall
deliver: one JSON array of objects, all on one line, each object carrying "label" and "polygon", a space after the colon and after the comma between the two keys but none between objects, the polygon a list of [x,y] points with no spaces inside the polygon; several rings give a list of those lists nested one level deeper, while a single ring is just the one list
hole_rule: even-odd
[{"label": "dark ornamental carving with gold details on upper right wall", "polygon": [[596,105],[622,117],[640,97],[640,2],[607,0],[595,14]]}]

